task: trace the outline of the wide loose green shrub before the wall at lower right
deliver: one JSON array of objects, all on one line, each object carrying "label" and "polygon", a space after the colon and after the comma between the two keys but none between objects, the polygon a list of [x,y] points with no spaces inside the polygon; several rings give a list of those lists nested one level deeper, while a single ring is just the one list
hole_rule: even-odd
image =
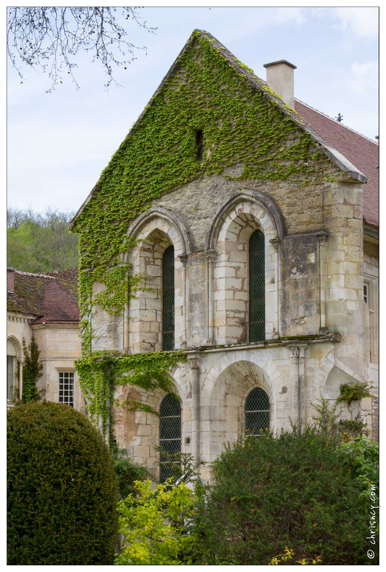
[{"label": "wide loose green shrub before the wall at lower right", "polygon": [[365,563],[368,511],[336,446],[312,428],[228,446],[213,485],[196,487],[197,561],[265,565],[288,546],[299,561]]}]

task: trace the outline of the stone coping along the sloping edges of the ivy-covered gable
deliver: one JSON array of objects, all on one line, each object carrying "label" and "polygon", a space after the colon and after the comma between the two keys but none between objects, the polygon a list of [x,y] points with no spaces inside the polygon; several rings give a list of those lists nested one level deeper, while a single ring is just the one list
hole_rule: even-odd
[{"label": "stone coping along the sloping edges of the ivy-covered gable", "polygon": [[[276,102],[278,108],[280,108],[282,110],[282,112],[285,113],[287,116],[290,116],[292,118],[292,120],[295,122],[295,124],[299,127],[299,129],[309,133],[309,135],[312,137],[312,139],[317,144],[319,144],[321,146],[321,150],[324,152],[324,154],[327,157],[329,157],[335,163],[335,165],[337,165],[337,167],[339,169],[341,169],[344,173],[347,173],[347,176],[349,178],[353,178],[353,179],[361,181],[361,182],[367,182],[367,178],[364,176],[364,174],[361,173],[346,157],[344,157],[343,154],[339,153],[339,151],[337,151],[332,146],[330,146],[326,141],[324,141],[323,138],[321,138],[320,135],[317,134],[311,128],[311,126],[308,125],[303,120],[303,118],[300,117],[300,115],[296,112],[296,110],[291,109],[291,108],[289,108],[288,105],[284,104],[284,102],[281,100],[281,98],[279,96],[277,96],[277,94],[274,93],[272,89],[269,88],[269,86],[266,84],[266,82],[264,80],[261,80],[261,78],[257,77],[256,74],[254,74],[253,70],[250,69],[250,67],[244,65],[244,63],[242,63],[239,59],[236,58],[236,56],[234,56],[228,49],[226,49],[226,47],[223,46],[222,43],[218,41],[218,39],[214,38],[214,36],[212,34],[210,34],[209,32],[207,32],[205,30],[197,30],[197,29],[193,30],[192,34],[190,35],[190,38],[185,43],[185,46],[180,51],[180,54],[178,54],[177,58],[174,60],[174,62],[172,64],[172,66],[170,67],[168,73],[166,74],[164,79],[161,81],[161,84],[158,86],[156,92],[154,92],[154,94],[153,94],[152,98],[150,99],[148,105],[146,105],[144,111],[141,113],[140,117],[138,117],[138,119],[134,123],[132,129],[130,129],[128,136],[130,136],[134,132],[136,132],[138,126],[141,124],[142,118],[144,118],[145,114],[148,112],[148,109],[153,105],[155,98],[157,97],[158,93],[160,93],[160,91],[164,87],[165,82],[168,80],[168,78],[170,76],[172,76],[172,74],[174,74],[177,71],[178,66],[180,65],[180,60],[181,60],[182,55],[184,55],[185,51],[188,50],[189,47],[193,45],[193,43],[197,37],[201,37],[205,41],[209,42],[210,45],[212,45],[214,47],[214,49],[216,49],[218,51],[218,53],[220,53],[222,55],[222,57],[224,57],[226,59],[228,64],[230,66],[232,66],[238,74],[242,74],[243,76],[245,76],[249,85],[253,89],[261,91],[262,93],[264,93],[264,95],[267,99],[269,99],[270,101]],[[90,201],[91,197],[93,197],[95,192],[97,192],[97,190],[98,190],[98,182],[94,186],[94,188],[91,190],[91,192],[87,196],[86,200],[83,202],[83,204],[81,205],[81,207],[78,209],[77,213],[75,214],[73,220],[71,221],[71,223],[70,223],[70,229],[71,230],[74,229],[78,216],[82,213],[83,209],[85,208],[87,203]]]}]

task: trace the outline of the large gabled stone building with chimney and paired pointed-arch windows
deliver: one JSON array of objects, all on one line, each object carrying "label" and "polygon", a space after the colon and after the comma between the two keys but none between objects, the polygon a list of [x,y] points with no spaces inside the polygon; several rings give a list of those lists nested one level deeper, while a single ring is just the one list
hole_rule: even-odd
[{"label": "large gabled stone building with chimney and paired pointed-arch windows", "polygon": [[[122,215],[127,236],[137,241],[122,251],[121,261],[129,264],[129,273],[145,279],[147,288],[138,286],[121,316],[95,311],[90,317],[97,332],[93,349],[124,355],[181,348],[186,362],[173,371],[181,403],[161,391],[116,387],[118,401],[150,404],[160,418],[116,408],[115,438],[154,471],[158,444],[212,462],[225,443],[245,431],[280,430],[289,427],[290,419],[310,420],[311,402],[320,394],[334,403],[341,384],[368,380],[375,385],[373,399],[356,403],[353,415],[361,410],[377,438],[377,143],[294,98],[296,66],[285,60],[268,63],[262,81],[212,35],[196,30],[117,153],[125,153],[131,141],[130,153],[136,153],[138,133],[152,129],[146,123],[149,110],[157,118],[153,107],[161,113],[162,106],[172,105],[172,90],[187,77],[181,94],[189,97],[189,66],[197,64],[197,74],[206,70],[206,54],[214,58],[214,82],[217,71],[225,69],[248,86],[250,99],[245,96],[242,104],[245,131],[253,97],[262,94],[261,121],[277,113],[282,133],[288,122],[293,126],[280,152],[293,149],[307,134],[308,156],[296,163],[296,174],[281,176],[289,160],[281,154],[277,164],[267,150],[261,161],[267,161],[269,176],[251,176],[247,167],[253,157],[240,158],[230,142],[222,151],[223,168],[208,172],[205,165],[222,141],[208,135],[204,118],[192,132],[195,160],[203,165],[199,176],[150,198],[136,216],[126,220]],[[226,121],[234,133],[242,132],[232,116],[232,98],[236,109],[241,90],[234,85],[218,81],[212,100],[204,93],[197,96],[197,106],[212,110],[217,105],[220,133]],[[218,93],[231,94],[227,109],[220,99],[214,104]],[[171,131],[178,129],[174,118],[169,125]],[[271,134],[256,133],[256,140],[264,144]],[[157,137],[154,128],[144,177],[162,146]],[[151,134],[149,141],[152,146]],[[179,152],[178,145],[172,153]],[[267,145],[271,149],[273,143]],[[129,160],[129,154],[125,157]],[[129,180],[130,171],[124,174]],[[85,214],[97,212],[90,209],[101,188],[95,186],[74,218],[73,229],[81,236]],[[103,201],[101,213],[109,206],[108,193]],[[95,280],[94,295],[104,288]],[[342,409],[343,417],[351,419],[351,412]],[[206,478],[208,469],[202,474]]]}]

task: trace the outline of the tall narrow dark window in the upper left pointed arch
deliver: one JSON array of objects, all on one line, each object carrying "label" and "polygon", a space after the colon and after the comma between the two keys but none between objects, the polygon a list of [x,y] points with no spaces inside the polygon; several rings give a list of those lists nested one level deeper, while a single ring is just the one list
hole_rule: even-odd
[{"label": "tall narrow dark window in the upper left pointed arch", "polygon": [[162,257],[162,351],[174,349],[174,247]]}]

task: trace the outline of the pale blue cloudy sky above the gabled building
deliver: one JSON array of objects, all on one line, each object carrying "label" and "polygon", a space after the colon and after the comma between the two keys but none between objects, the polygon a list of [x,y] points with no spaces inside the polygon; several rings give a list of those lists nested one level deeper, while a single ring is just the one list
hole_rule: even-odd
[{"label": "pale blue cloudy sky above the gabled building", "polygon": [[147,55],[138,51],[118,71],[123,88],[106,92],[101,66],[86,53],[76,60],[79,90],[68,80],[45,93],[49,79],[31,70],[21,85],[8,66],[10,206],[77,210],[194,28],[264,80],[264,63],[287,59],[297,66],[297,98],[329,116],[341,113],[367,137],[379,132],[376,8],[146,7],[140,14],[158,30],[148,34],[130,22],[130,40],[146,45]]}]

